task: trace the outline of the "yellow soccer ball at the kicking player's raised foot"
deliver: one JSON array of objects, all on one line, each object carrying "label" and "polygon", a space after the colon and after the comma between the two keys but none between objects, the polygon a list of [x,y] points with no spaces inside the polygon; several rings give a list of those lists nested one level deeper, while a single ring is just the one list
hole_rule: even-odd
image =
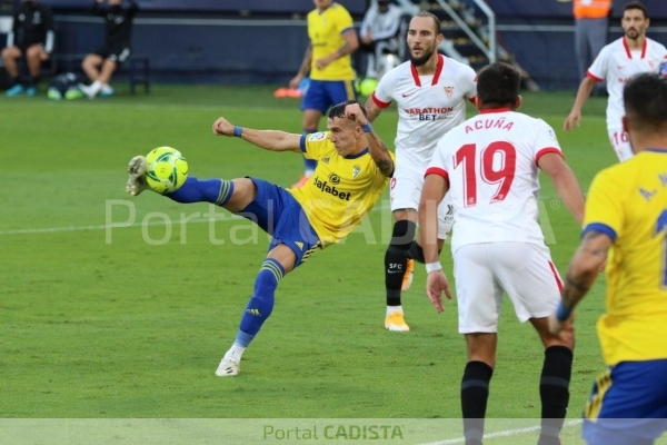
[{"label": "yellow soccer ball at the kicking player's raised foot", "polygon": [[176,191],[188,178],[188,161],[175,148],[158,147],[146,155],[146,181],[158,194]]}]

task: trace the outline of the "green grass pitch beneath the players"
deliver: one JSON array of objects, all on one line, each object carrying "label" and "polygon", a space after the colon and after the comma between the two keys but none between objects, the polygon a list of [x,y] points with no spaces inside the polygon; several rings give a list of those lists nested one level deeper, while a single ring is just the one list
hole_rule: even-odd
[{"label": "green grass pitch beneath the players", "polygon": [[[0,417],[460,417],[466,356],[456,300],[437,315],[417,267],[404,294],[412,332],[384,329],[388,194],[345,244],[316,253],[281,281],[241,375],[215,377],[268,238],[222,209],[209,224],[207,205],[150,192],[130,198],[125,169],[130,157],[171,146],[187,157],[190,175],[289,186],[301,172],[300,157],[210,129],[225,116],[300,132],[298,101],[273,99],[271,91],[156,86],[150,95],[121,91],[109,100],[0,98]],[[571,92],[526,93],[521,111],[555,128],[586,190],[616,157],[604,99],[589,101],[581,128],[561,131],[573,100]],[[390,147],[396,120],[391,109],[376,123]],[[579,230],[548,179],[540,202],[563,274]],[[177,224],[183,218],[191,221]],[[450,271],[448,249],[442,260]],[[600,278],[578,310],[573,419],[604,369],[595,334],[604,289]],[[489,417],[539,417],[541,358],[532,328],[505,305]]]}]

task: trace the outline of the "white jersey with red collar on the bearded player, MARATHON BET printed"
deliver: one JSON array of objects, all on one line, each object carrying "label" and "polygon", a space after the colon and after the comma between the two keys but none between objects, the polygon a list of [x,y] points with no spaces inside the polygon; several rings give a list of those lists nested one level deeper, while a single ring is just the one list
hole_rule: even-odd
[{"label": "white jersey with red collar on the bearded player, MARATHON BET printed", "polygon": [[379,108],[392,100],[398,107],[397,165],[424,171],[438,140],[466,120],[465,99],[475,96],[475,70],[442,55],[432,76],[419,76],[410,61],[382,76],[371,98]]}]

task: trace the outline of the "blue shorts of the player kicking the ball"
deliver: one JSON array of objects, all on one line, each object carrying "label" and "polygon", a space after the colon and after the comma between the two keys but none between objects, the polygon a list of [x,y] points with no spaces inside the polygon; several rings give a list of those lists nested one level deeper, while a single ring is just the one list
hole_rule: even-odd
[{"label": "blue shorts of the player kicking the ball", "polygon": [[303,208],[282,187],[261,179],[249,179],[257,187],[257,196],[238,215],[250,219],[271,235],[269,250],[283,244],[297,255],[295,267],[301,265],[320,246],[319,237],[310,226]]}]

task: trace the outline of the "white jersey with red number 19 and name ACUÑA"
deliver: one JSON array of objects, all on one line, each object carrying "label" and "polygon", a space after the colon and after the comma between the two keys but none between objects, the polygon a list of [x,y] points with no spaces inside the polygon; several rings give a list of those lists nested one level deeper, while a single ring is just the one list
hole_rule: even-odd
[{"label": "white jersey with red number 19 and name ACU\u00d1A", "polygon": [[549,152],[561,155],[554,129],[507,108],[484,110],[440,139],[426,175],[449,184],[452,251],[477,243],[544,245],[537,161]]}]

